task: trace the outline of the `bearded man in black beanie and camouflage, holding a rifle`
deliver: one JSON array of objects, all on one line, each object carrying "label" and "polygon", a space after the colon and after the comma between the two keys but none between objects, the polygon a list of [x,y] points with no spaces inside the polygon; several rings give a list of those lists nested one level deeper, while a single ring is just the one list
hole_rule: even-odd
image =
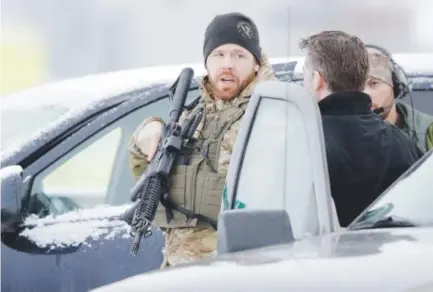
[{"label": "bearded man in black beanie and camouflage, holding a rifle", "polygon": [[[175,165],[169,195],[197,219],[176,210],[173,218],[161,204],[154,225],[165,231],[164,262],[173,266],[212,254],[216,250],[216,221],[221,206],[225,176],[241,118],[255,84],[276,80],[267,57],[261,52],[254,22],[240,13],[216,16],[206,29],[203,55],[207,75],[202,79],[201,97],[183,112],[181,120],[199,110],[204,117],[196,131],[191,152],[184,153],[185,165]],[[155,155],[164,121],[145,120],[130,140],[130,166],[138,178]]]}]

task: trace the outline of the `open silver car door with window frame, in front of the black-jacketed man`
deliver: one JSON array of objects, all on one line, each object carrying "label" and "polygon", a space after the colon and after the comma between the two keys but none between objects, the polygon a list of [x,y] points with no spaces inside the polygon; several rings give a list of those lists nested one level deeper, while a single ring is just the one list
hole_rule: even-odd
[{"label": "open silver car door with window frame, in front of the black-jacketed man", "polygon": [[320,112],[300,85],[257,85],[227,175],[223,209],[234,208],[284,209],[296,239],[338,228]]}]

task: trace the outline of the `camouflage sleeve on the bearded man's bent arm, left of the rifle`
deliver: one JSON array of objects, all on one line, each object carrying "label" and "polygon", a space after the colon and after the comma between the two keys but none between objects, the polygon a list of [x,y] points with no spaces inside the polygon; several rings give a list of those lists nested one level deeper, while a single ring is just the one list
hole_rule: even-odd
[{"label": "camouflage sleeve on the bearded man's bent arm, left of the rifle", "polygon": [[[182,115],[179,118],[179,122],[182,122],[185,117],[188,115],[189,111],[184,110],[182,112]],[[146,167],[148,165],[147,162],[147,156],[144,155],[140,148],[138,147],[138,135],[140,134],[140,131],[150,122],[153,121],[159,121],[163,125],[165,125],[165,122],[163,119],[158,117],[150,117],[148,119],[145,119],[134,131],[131,138],[129,139],[129,145],[128,145],[128,152],[129,152],[129,168],[131,169],[132,175],[134,176],[135,180],[138,180],[138,178],[143,174],[143,172],[146,170]]]}]

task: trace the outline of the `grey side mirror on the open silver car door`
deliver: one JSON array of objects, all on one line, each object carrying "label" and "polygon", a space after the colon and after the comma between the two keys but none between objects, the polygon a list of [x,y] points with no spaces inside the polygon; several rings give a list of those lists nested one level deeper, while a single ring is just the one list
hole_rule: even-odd
[{"label": "grey side mirror on the open silver car door", "polygon": [[285,210],[232,209],[220,213],[218,254],[295,240]]}]

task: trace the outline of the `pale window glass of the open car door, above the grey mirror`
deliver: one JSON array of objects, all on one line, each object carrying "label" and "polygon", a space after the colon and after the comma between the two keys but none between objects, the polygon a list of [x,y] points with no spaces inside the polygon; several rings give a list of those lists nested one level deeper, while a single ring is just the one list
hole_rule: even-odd
[{"label": "pale window glass of the open car door, above the grey mirror", "polygon": [[[298,107],[265,98],[259,104],[239,176],[237,198],[248,208],[285,208],[296,238],[318,224],[308,137]],[[288,182],[296,182],[296,184]]]}]

